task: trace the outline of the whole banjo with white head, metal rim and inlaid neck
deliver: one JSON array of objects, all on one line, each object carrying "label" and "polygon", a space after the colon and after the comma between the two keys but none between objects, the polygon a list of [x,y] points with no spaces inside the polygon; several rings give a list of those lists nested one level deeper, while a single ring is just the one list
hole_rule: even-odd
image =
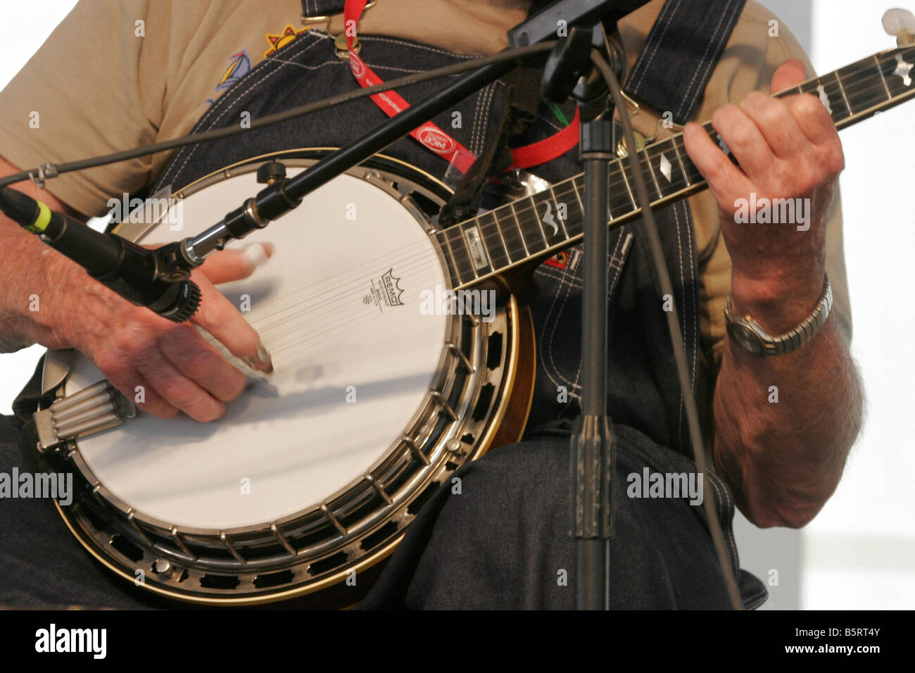
[{"label": "whole banjo with white head, metal rim and inlaid neck", "polygon": [[[842,128],[915,96],[913,63],[915,47],[903,46],[778,95],[813,93]],[[327,152],[255,157],[181,188],[181,235],[258,191],[265,164],[291,174]],[[705,189],[681,135],[637,157],[652,208]],[[621,158],[610,166],[610,226],[639,216],[631,175]],[[35,415],[38,456],[74,472],[73,502],[57,507],[82,545],[124,580],[182,601],[358,602],[425,499],[465,462],[520,439],[533,325],[502,278],[583,237],[582,175],[443,229],[436,213],[448,195],[377,156],[253,233],[276,245],[273,259],[220,289],[250,302],[246,318],[275,371],[253,372],[221,349],[249,385],[218,423],[144,414],[80,353],[49,351],[42,390],[54,402]],[[167,243],[168,221],[114,232]],[[306,244],[318,221],[309,238],[319,244]],[[427,301],[433,288],[496,300],[485,316],[460,302],[442,309]]]}]

